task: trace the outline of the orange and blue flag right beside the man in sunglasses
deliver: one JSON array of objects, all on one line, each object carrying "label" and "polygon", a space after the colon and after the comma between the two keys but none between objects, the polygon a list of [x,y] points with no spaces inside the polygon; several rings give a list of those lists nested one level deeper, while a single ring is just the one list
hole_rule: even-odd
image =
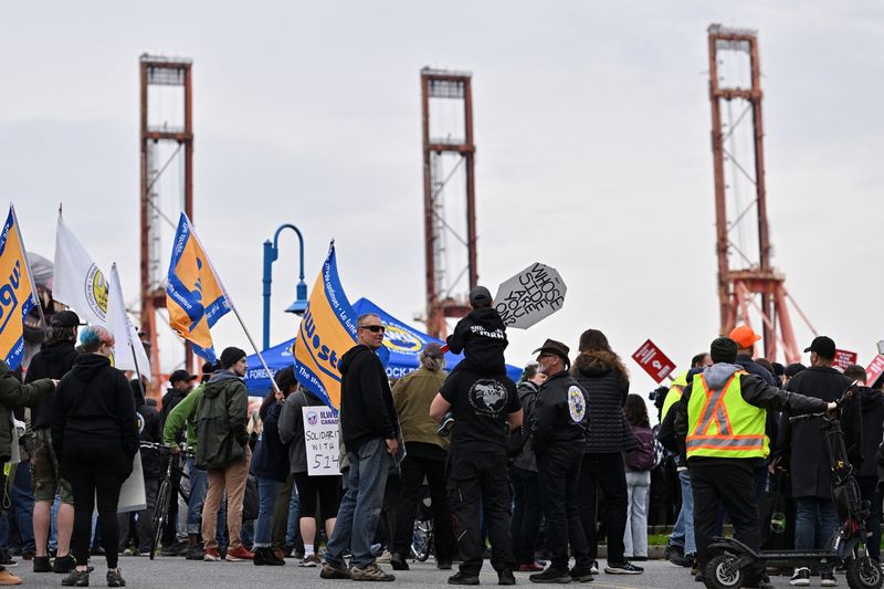
[{"label": "orange and blue flag right beside the man in sunglasses", "polygon": [[335,242],[316,278],[295,340],[295,376],[329,407],[340,407],[340,357],[356,343],[356,312],[338,277]]}]

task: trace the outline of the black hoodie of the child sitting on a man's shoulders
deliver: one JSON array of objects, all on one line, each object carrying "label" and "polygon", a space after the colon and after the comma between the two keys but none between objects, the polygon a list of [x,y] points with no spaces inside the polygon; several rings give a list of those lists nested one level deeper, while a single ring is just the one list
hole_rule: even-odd
[{"label": "black hoodie of the child sitting on a man's shoulders", "polygon": [[455,370],[466,370],[477,375],[506,374],[504,350],[506,326],[501,314],[493,307],[475,308],[454,326],[445,343],[452,354],[463,351],[464,360]]}]

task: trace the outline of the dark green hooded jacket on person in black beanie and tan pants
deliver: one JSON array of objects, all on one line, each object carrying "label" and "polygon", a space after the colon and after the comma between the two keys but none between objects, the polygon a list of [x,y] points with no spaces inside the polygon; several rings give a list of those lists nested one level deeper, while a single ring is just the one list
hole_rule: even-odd
[{"label": "dark green hooded jacket on person in black beanie and tan pants", "polygon": [[249,443],[249,392],[242,379],[230,370],[212,375],[202,388],[193,421],[197,467],[223,469],[243,460]]}]

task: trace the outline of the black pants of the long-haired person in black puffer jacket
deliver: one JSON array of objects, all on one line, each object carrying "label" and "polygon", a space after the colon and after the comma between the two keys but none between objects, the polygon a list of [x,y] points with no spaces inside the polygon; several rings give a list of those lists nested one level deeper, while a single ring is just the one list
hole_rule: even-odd
[{"label": "black pants of the long-haired person in black puffer jacket", "polygon": [[583,454],[580,466],[580,519],[589,544],[589,559],[596,560],[599,554],[598,538],[598,496],[601,490],[604,497],[604,529],[608,535],[608,562],[622,565],[623,535],[627,532],[627,469],[620,452],[608,454]]}]

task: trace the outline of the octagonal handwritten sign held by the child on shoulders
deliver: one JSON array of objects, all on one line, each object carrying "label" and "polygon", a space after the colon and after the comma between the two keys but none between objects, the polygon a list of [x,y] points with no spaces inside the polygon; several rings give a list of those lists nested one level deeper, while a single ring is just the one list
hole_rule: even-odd
[{"label": "octagonal handwritten sign held by the child on shoulders", "polygon": [[560,309],[567,290],[556,269],[534,263],[497,288],[494,306],[504,325],[527,329]]}]

